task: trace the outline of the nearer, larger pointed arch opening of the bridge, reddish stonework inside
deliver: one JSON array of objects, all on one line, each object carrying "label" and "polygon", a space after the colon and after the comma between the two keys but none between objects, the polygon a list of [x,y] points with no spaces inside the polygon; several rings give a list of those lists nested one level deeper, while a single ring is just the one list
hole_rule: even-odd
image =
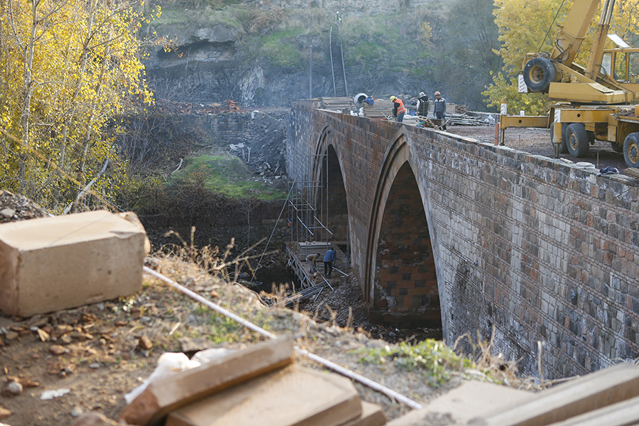
[{"label": "nearer, larger pointed arch opening of the bridge, reddish stonework inside", "polygon": [[374,323],[442,327],[442,307],[422,182],[400,129],[388,148],[368,225],[363,289]]}]

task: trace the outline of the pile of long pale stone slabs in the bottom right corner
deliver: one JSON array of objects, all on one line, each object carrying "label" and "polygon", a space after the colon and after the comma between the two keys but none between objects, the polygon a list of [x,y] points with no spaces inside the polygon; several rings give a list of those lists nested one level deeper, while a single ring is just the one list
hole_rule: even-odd
[{"label": "pile of long pale stone slabs in the bottom right corner", "polygon": [[535,394],[469,382],[420,410],[398,417],[388,426],[635,425],[639,421],[638,383],[639,368],[631,363],[605,368]]}]

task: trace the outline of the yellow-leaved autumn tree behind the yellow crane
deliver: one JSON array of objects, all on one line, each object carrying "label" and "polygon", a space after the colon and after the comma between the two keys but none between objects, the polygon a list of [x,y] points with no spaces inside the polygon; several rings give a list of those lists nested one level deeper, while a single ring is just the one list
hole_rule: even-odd
[{"label": "yellow-leaved autumn tree behind the yellow crane", "polygon": [[[483,92],[488,106],[508,103],[509,111],[524,110],[526,114],[545,114],[550,102],[544,93],[518,93],[517,75],[528,52],[552,52],[555,35],[572,6],[569,0],[495,0],[495,22],[499,28],[501,48],[495,50],[503,58],[504,67],[493,75],[493,84]],[[600,5],[601,8],[601,5]],[[601,13],[601,9],[600,9]],[[591,22],[586,39],[581,44],[576,62],[586,65],[592,37],[599,16]],[[610,33],[617,33],[632,42],[639,33],[639,0],[617,0]],[[611,45],[611,42],[608,42]]]}]

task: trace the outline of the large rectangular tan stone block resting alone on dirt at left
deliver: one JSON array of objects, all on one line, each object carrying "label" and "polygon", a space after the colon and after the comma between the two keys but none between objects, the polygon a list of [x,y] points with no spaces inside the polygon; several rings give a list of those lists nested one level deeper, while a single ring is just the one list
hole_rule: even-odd
[{"label": "large rectangular tan stone block resting alone on dirt at left", "polygon": [[104,210],[0,225],[0,310],[29,317],[137,293],[148,239]]}]

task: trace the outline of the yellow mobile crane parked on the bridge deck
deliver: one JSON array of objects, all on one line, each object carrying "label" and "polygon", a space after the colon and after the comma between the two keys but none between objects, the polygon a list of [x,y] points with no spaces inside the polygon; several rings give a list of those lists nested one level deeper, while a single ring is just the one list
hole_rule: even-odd
[{"label": "yellow mobile crane parked on the bridge deck", "polygon": [[[508,127],[550,129],[555,156],[586,156],[595,139],[623,152],[628,167],[639,166],[639,48],[608,35],[615,0],[604,0],[586,67],[574,62],[599,0],[574,0],[559,27],[552,53],[528,53],[519,77],[520,92],[545,92],[556,104],[548,116],[500,118],[501,141]],[[616,48],[603,47],[611,38]]]}]

